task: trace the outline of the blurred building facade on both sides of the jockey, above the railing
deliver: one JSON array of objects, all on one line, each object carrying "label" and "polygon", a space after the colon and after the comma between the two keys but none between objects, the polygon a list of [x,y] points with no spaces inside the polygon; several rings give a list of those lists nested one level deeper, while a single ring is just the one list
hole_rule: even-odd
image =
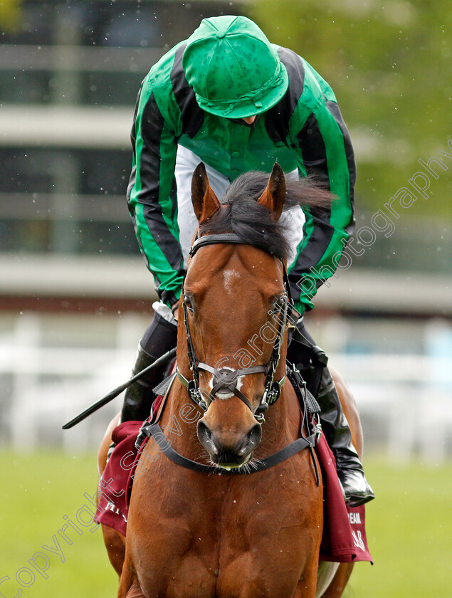
[{"label": "blurred building facade on both sides of the jockey, above the railing", "polygon": [[[83,295],[83,279],[75,284],[80,263],[84,272],[103,271],[98,292],[88,281],[87,300],[101,297],[105,289],[111,300],[118,268],[134,272],[129,298],[145,298],[152,294],[152,279],[144,268],[138,273],[138,248],[125,204],[137,90],[150,66],[203,17],[246,14],[252,3],[4,4],[16,11],[0,22],[0,304],[3,299],[2,305],[14,308],[14,298],[21,296],[26,308],[63,309],[59,298]],[[374,159],[365,136],[353,133],[358,163]],[[409,211],[389,223],[359,211],[359,199],[360,255],[351,256],[353,268],[327,287],[325,301],[325,293],[319,293],[319,305],[354,312],[362,303],[364,312],[448,317],[450,293],[442,284],[452,279],[448,223]],[[346,276],[352,278],[345,281]],[[352,296],[347,285],[355,279],[363,284],[353,285]],[[125,299],[125,285],[120,286]],[[434,300],[420,292],[433,288]],[[31,300],[35,295],[40,303]],[[46,298],[51,300],[46,303]]]}]

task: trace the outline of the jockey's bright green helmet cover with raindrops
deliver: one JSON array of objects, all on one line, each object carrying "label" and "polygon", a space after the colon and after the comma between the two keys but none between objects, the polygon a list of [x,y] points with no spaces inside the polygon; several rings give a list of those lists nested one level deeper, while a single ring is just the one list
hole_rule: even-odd
[{"label": "jockey's bright green helmet cover with raindrops", "polygon": [[266,112],[288,88],[278,52],[245,16],[203,19],[187,40],[182,65],[199,106],[227,118]]}]

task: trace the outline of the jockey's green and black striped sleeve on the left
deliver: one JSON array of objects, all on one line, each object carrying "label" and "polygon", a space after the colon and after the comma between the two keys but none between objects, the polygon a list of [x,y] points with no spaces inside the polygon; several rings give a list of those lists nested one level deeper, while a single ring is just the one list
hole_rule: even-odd
[{"label": "jockey's green and black striped sleeve on the left", "polygon": [[167,305],[179,300],[184,279],[174,178],[177,140],[171,122],[157,104],[148,75],[138,94],[132,125],[127,203],[140,251],[159,298]]}]

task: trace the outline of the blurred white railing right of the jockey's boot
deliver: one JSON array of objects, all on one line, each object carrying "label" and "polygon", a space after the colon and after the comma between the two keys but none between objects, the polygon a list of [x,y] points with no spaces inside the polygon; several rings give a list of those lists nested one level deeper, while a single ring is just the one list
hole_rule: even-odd
[{"label": "blurred white railing right of the jockey's boot", "polygon": [[365,445],[399,461],[451,456],[451,355],[331,355],[357,399]]}]

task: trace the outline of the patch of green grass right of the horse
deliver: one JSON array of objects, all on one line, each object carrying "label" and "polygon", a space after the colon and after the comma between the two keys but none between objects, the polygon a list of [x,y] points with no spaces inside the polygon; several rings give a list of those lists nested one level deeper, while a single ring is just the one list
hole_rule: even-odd
[{"label": "patch of green grass right of the horse", "polygon": [[358,563],[346,597],[451,596],[452,465],[365,461],[377,498],[367,505],[374,566]]}]

